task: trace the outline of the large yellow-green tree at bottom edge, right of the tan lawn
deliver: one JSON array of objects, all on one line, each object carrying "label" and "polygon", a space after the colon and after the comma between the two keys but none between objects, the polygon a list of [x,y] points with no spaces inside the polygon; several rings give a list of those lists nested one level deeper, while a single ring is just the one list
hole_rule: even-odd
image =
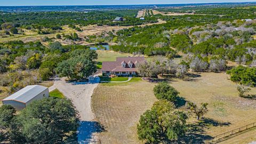
[{"label": "large yellow-green tree at bottom edge, right of the tan lawn", "polygon": [[169,101],[157,101],[150,110],[141,115],[137,126],[138,137],[147,143],[177,140],[187,130],[187,118],[182,111],[174,110]]}]

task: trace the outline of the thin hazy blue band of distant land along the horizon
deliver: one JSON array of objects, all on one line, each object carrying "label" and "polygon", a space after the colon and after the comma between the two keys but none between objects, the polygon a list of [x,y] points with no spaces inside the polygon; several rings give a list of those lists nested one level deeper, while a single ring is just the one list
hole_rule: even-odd
[{"label": "thin hazy blue band of distant land along the horizon", "polygon": [[215,3],[172,3],[172,4],[104,4],[104,5],[0,5],[0,6],[118,6],[118,5],[177,5],[177,4],[222,4],[222,3],[256,3],[256,2],[215,2]]}]

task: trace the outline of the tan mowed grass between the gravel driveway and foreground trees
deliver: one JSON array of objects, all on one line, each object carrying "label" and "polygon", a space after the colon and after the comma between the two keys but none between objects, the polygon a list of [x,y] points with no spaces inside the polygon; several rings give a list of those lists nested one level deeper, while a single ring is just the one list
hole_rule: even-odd
[{"label": "tan mowed grass between the gravel driveway and foreground trees", "polygon": [[137,123],[140,115],[156,101],[154,84],[139,81],[125,85],[100,84],[92,95],[96,119],[105,127],[99,138],[102,143],[140,143]]}]

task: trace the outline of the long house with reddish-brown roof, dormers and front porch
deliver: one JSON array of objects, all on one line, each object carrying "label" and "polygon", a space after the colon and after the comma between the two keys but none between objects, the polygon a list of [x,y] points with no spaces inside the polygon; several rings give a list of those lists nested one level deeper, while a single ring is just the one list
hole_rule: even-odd
[{"label": "long house with reddish-brown roof, dormers and front porch", "polygon": [[144,57],[119,57],[116,61],[103,61],[102,75],[137,75],[137,66],[142,62],[146,62]]}]

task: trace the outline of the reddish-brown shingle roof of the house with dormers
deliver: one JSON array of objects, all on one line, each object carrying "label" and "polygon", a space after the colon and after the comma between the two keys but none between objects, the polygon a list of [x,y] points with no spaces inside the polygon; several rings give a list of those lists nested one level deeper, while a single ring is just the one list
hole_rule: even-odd
[{"label": "reddish-brown shingle roof of the house with dormers", "polygon": [[137,71],[137,68],[133,67],[122,67],[122,64],[125,63],[141,63],[145,62],[144,57],[118,57],[116,58],[116,61],[103,61],[102,62],[102,71]]}]

